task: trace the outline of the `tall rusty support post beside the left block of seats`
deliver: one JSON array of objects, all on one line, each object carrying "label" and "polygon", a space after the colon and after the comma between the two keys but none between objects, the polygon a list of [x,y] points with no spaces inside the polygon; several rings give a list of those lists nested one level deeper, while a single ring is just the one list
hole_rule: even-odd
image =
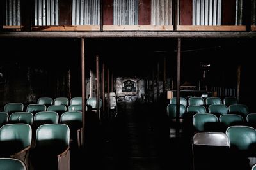
[{"label": "tall rusty support post beside the left block of seats", "polygon": [[82,146],[84,146],[84,129],[85,129],[85,99],[86,99],[86,85],[85,85],[85,58],[84,58],[84,37],[81,38],[81,71],[82,71]]}]

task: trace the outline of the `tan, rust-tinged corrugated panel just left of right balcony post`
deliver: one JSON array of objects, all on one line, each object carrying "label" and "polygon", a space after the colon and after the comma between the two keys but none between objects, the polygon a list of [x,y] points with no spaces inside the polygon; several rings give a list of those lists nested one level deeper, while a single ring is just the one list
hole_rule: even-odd
[{"label": "tan, rust-tinged corrugated panel just left of right balcony post", "polygon": [[151,25],[172,25],[172,0],[151,1]]}]

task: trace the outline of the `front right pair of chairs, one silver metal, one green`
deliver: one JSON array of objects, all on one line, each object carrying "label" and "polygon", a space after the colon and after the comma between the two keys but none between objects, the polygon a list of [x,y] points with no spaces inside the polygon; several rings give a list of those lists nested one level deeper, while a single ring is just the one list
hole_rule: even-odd
[{"label": "front right pair of chairs, one silver metal, one green", "polygon": [[193,169],[255,170],[256,129],[234,125],[225,132],[193,135]]}]

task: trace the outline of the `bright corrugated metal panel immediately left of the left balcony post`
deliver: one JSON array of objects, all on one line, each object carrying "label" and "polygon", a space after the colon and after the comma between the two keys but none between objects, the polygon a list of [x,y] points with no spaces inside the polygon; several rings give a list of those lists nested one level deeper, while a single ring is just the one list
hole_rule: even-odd
[{"label": "bright corrugated metal panel immediately left of the left balcony post", "polygon": [[100,0],[73,0],[72,25],[100,25]]}]

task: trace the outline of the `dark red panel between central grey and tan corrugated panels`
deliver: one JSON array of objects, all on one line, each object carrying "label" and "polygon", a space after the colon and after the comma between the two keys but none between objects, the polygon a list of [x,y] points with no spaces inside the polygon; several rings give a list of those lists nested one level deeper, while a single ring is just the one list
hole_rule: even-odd
[{"label": "dark red panel between central grey and tan corrugated panels", "polygon": [[151,1],[139,0],[139,25],[151,24]]}]

